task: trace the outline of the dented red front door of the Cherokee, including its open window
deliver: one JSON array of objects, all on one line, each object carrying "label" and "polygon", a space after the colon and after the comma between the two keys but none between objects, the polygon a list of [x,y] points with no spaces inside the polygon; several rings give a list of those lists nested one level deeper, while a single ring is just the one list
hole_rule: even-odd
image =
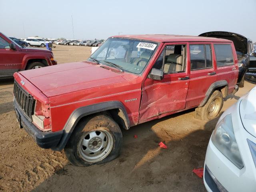
[{"label": "dented red front door of the Cherokee, including its open window", "polygon": [[186,47],[184,42],[163,46],[153,68],[164,70],[164,77],[162,80],[147,78],[142,84],[140,123],[185,108],[189,85]]}]

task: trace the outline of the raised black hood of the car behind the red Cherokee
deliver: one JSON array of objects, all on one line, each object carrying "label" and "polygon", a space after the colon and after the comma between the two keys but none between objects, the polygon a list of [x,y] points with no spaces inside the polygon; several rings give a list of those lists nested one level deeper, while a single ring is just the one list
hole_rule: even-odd
[{"label": "raised black hood of the car behind the red Cherokee", "polygon": [[233,41],[236,51],[241,52],[242,54],[247,54],[248,52],[247,38],[240,34],[225,31],[212,31],[202,33],[198,36],[228,39]]}]

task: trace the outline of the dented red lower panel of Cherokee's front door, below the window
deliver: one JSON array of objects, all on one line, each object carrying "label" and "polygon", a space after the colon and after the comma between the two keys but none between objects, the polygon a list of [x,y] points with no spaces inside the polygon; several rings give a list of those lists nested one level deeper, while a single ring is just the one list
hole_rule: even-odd
[{"label": "dented red lower panel of Cherokee's front door, below the window", "polygon": [[140,122],[185,108],[188,80],[178,80],[184,76],[186,73],[166,74],[162,81],[145,81],[140,105]]}]

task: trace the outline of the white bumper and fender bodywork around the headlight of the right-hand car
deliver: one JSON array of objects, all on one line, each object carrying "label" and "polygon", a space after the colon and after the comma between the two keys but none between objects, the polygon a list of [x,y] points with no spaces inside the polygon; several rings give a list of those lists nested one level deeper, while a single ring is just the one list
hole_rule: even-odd
[{"label": "white bumper and fender bodywork around the headlight of the right-hand car", "polygon": [[[244,167],[242,169],[237,168],[216,148],[210,138],[204,169],[204,185],[208,192],[255,192],[256,166],[247,139],[256,143],[256,138],[249,134],[242,125],[239,112],[240,101],[241,99],[238,100],[237,104],[226,110],[220,119],[227,114],[232,115],[234,134]],[[216,186],[222,186],[223,188],[220,190]]]}]

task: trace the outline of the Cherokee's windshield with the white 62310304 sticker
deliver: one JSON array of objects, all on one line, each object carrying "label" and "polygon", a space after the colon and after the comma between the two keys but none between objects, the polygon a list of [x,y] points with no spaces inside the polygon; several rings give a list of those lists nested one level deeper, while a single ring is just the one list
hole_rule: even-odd
[{"label": "Cherokee's windshield with the white 62310304 sticker", "polygon": [[124,71],[140,74],[157,46],[156,42],[109,38],[91,55],[91,58],[102,64],[108,65],[111,62]]}]

